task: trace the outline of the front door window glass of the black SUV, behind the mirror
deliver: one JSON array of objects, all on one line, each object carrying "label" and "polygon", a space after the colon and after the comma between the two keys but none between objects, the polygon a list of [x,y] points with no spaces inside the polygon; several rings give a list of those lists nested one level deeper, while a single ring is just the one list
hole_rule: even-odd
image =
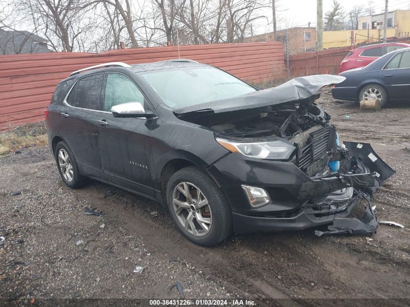
[{"label": "front door window glass of the black SUV, behind the mirror", "polygon": [[111,112],[117,104],[139,102],[144,106],[144,95],[128,77],[122,74],[110,73],[105,85],[104,111]]}]

